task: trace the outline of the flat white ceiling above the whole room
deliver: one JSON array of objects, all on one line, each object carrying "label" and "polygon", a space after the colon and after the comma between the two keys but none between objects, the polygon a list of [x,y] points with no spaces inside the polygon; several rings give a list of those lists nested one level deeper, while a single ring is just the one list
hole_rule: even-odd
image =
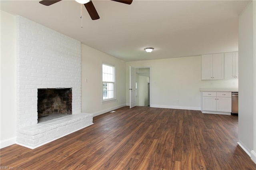
[{"label": "flat white ceiling above the whole room", "polygon": [[[1,0],[1,10],[24,16],[124,61],[238,50],[238,17],[246,0],[92,0],[91,20],[75,0],[44,6],[39,0]],[[145,47],[154,47],[146,53]]]}]

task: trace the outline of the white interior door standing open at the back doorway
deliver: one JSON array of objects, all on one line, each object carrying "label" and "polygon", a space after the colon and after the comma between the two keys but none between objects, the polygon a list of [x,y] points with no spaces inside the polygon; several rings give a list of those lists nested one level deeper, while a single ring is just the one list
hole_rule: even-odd
[{"label": "white interior door standing open at the back doorway", "polygon": [[130,66],[130,108],[136,106],[136,69]]}]

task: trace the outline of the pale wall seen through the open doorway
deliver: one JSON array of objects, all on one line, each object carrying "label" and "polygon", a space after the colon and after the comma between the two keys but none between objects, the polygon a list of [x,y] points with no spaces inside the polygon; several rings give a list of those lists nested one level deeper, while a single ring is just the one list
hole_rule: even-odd
[{"label": "pale wall seen through the open doorway", "polygon": [[149,77],[138,75],[138,106],[148,106]]}]

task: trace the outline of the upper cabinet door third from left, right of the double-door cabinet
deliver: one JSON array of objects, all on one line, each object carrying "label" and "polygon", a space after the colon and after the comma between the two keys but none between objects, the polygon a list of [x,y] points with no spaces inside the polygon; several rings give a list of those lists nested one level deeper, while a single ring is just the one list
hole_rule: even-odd
[{"label": "upper cabinet door third from left, right of the double-door cabinet", "polygon": [[225,79],[235,79],[235,53],[224,53],[224,74]]}]

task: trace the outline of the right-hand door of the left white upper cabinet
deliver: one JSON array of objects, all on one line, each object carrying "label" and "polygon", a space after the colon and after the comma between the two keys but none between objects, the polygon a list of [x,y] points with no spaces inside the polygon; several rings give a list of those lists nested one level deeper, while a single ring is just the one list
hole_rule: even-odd
[{"label": "right-hand door of the left white upper cabinet", "polygon": [[224,53],[212,55],[212,79],[224,79]]}]

